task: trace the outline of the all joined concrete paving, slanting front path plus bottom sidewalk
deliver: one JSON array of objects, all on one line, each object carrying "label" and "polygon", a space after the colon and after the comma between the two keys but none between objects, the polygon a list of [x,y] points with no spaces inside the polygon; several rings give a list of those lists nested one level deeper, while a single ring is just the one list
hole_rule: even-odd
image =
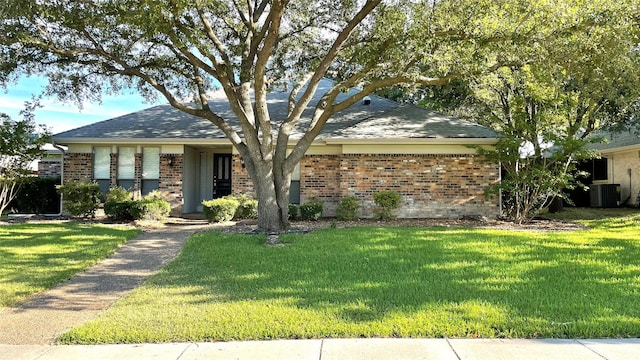
[{"label": "all joined concrete paving, slanting front path plus bottom sidewalk", "polygon": [[129,240],[69,282],[0,312],[0,360],[62,359],[640,359],[640,339],[319,339],[138,345],[53,345],[178,255],[204,224]]}]

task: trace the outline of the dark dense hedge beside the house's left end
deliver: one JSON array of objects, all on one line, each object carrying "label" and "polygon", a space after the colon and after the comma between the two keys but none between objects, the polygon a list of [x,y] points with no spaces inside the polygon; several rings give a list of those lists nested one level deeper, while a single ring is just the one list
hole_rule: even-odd
[{"label": "dark dense hedge beside the house's left end", "polygon": [[60,211],[59,177],[27,177],[20,181],[18,194],[10,209],[19,213],[55,214]]}]

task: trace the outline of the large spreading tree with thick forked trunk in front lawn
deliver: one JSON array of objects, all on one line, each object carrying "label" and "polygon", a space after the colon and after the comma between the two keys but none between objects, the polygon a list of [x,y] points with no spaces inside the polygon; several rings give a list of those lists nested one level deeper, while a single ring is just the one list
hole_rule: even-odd
[{"label": "large spreading tree with thick forked trunk in front lawn", "polygon": [[[0,5],[0,81],[44,74],[50,93],[78,102],[134,87],[210,120],[244,160],[260,230],[279,231],[288,225],[291,173],[333,114],[387,86],[442,85],[525,61],[535,55],[535,39],[563,37],[606,11],[601,2],[585,3],[7,0]],[[311,103],[325,77],[335,85]],[[275,119],[266,94],[285,83],[289,112]],[[209,108],[215,86],[239,127]],[[307,108],[312,119],[292,141]]]}]

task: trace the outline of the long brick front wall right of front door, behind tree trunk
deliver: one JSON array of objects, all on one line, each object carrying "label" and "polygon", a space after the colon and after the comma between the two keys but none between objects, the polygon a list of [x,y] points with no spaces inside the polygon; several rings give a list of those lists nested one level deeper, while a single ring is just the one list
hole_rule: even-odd
[{"label": "long brick front wall right of front door, behind tree trunk", "polygon": [[[234,160],[234,193],[251,193],[246,170]],[[300,163],[300,200],[324,201],[332,216],[347,195],[360,199],[361,216],[372,217],[373,194],[393,190],[402,196],[402,218],[457,218],[497,215],[498,200],[484,190],[498,182],[498,166],[478,155],[310,155]]]}]

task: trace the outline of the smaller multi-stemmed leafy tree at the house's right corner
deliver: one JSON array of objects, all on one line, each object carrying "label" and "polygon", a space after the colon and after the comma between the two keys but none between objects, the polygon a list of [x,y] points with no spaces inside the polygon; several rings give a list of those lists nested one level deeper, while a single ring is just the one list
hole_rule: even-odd
[{"label": "smaller multi-stemmed leafy tree at the house's right corner", "polygon": [[595,18],[585,5],[575,13],[577,31],[541,38],[525,61],[418,93],[423,105],[502,134],[494,149],[481,152],[502,165],[493,190],[503,190],[510,220],[526,222],[566,189],[583,185],[574,177],[576,165],[597,156],[587,146],[600,140],[594,132],[638,121],[638,4],[604,3],[607,10]]}]

